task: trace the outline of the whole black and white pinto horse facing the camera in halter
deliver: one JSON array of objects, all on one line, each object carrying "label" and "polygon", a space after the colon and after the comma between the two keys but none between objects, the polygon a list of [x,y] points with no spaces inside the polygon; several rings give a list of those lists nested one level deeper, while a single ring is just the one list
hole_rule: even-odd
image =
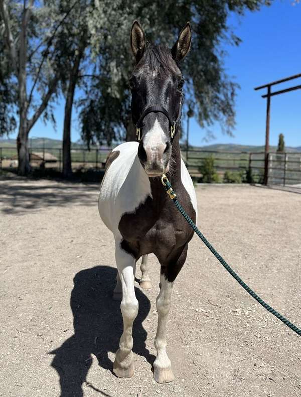
[{"label": "whole black and white pinto horse facing the camera in halter", "polygon": [[162,174],[167,174],[188,215],[194,221],[197,216],[195,190],[181,159],[178,135],[184,83],[178,65],[190,49],[191,27],[186,24],[170,50],[146,44],[135,21],[130,43],[136,59],[130,79],[132,118],[139,142],[124,143],[111,152],[99,195],[100,216],[115,238],[118,276],[113,297],[122,298],[123,333],[113,371],[119,377],[134,373],[135,267],[142,256],[140,286],[151,288],[147,254],[154,252],[161,265],[154,378],[164,383],[174,380],[166,351],[173,284],[186,260],[193,231],[166,194]]}]

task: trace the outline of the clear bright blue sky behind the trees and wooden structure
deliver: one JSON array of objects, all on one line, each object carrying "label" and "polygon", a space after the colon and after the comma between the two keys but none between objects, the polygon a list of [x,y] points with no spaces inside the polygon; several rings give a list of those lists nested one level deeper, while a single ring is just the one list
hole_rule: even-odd
[{"label": "clear bright blue sky behind the trees and wooden structure", "polygon": [[[220,127],[211,127],[215,139],[207,144],[233,143],[263,145],[265,134],[265,89],[254,87],[301,73],[301,3],[276,0],[272,6],[245,16],[232,15],[229,24],[242,43],[227,46],[225,68],[228,75],[240,85],[236,97],[236,127],[234,137],[221,133]],[[300,84],[301,78],[276,85],[279,90]],[[270,144],[276,145],[278,135],[284,134],[287,146],[301,146],[301,90],[276,95],[271,98]],[[64,100],[56,108],[57,132],[51,124],[41,120],[31,131],[31,137],[62,138]],[[186,128],[186,122],[184,122]],[[190,143],[205,145],[206,131],[195,120],[190,123]],[[73,113],[72,141],[79,139],[76,113]]]}]

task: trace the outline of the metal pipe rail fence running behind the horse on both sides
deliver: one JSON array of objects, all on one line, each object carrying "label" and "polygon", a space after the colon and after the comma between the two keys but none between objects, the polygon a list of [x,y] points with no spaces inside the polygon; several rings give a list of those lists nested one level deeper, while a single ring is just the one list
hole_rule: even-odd
[{"label": "metal pipe rail fence running behind the horse on both sides", "polygon": [[[110,148],[71,149],[72,169],[103,169]],[[200,167],[210,156],[214,158],[214,168],[222,180],[226,171],[248,173],[248,182],[263,183],[264,152],[228,152],[190,149],[183,151],[183,160],[188,171],[197,180],[202,178]],[[186,157],[187,156],[187,157]],[[30,161],[34,168],[54,168],[62,171],[62,149],[30,148]],[[18,167],[16,148],[0,147],[0,169]],[[294,186],[301,189],[301,153],[269,153],[268,184]]]}]

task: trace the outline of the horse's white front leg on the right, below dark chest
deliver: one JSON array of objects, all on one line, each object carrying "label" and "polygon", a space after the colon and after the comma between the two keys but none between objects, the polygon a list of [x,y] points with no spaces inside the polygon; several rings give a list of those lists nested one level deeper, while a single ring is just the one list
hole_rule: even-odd
[{"label": "horse's white front leg on the right, below dark chest", "polygon": [[157,358],[154,362],[154,379],[158,383],[171,382],[175,378],[166,351],[167,319],[172,304],[173,284],[164,275],[160,275],[160,293],[157,298],[158,328],[155,338]]}]

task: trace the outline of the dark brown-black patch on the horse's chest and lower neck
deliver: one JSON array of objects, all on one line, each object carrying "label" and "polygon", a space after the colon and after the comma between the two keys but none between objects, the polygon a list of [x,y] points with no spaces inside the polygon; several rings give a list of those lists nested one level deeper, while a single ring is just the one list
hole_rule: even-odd
[{"label": "dark brown-black patch on the horse's chest and lower neck", "polygon": [[[196,212],[190,196],[181,181],[181,154],[179,137],[175,138],[172,156],[176,165],[169,175],[179,201],[195,221]],[[161,273],[173,282],[187,255],[187,244],[193,230],[183,219],[175,204],[166,194],[159,178],[149,178],[152,197],[148,196],[134,212],[121,216],[118,229],[123,237],[121,247],[138,259],[141,255],[154,252],[161,264]]]}]

